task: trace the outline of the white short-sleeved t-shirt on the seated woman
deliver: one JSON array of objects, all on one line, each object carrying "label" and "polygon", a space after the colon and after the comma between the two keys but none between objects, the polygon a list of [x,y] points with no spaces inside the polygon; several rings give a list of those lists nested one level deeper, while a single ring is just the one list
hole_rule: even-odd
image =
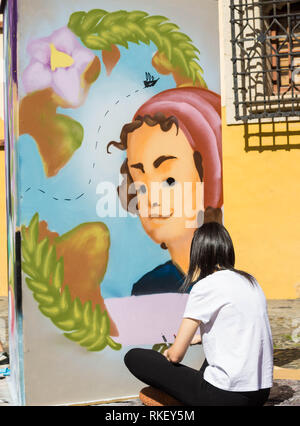
[{"label": "white short-sleeved t-shirt on the seated woman", "polygon": [[183,317],[201,321],[204,380],[229,391],[272,387],[272,334],[257,282],[229,270],[208,275],[193,286]]}]

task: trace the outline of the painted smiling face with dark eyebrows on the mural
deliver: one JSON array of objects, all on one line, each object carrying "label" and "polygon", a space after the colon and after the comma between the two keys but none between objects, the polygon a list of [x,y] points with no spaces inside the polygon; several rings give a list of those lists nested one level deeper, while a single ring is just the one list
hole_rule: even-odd
[{"label": "painted smiling face with dark eyebrows on the mural", "polygon": [[203,210],[203,186],[193,150],[176,126],[164,132],[143,124],[128,135],[129,171],[137,191],[138,210],[146,233],[168,244],[196,228]]}]

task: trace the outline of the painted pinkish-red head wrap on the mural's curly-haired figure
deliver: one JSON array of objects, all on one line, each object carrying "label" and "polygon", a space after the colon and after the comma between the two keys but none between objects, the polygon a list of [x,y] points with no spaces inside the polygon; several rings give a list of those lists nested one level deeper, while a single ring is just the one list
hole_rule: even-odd
[{"label": "painted pinkish-red head wrap on the mural's curly-haired figure", "polygon": [[222,128],[221,99],[210,90],[182,87],[161,92],[145,102],[134,119],[161,112],[174,115],[194,151],[199,151],[204,171],[204,207],[221,207]]}]

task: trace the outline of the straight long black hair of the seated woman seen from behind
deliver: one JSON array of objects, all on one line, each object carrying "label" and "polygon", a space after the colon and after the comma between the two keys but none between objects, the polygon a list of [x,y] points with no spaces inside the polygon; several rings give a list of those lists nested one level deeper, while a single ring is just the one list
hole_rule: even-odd
[{"label": "straight long black hair of the seated woman seen from behind", "polygon": [[235,253],[227,229],[217,222],[204,223],[196,229],[191,244],[190,265],[181,292],[202,278],[220,270],[237,272],[255,285],[255,278],[247,272],[234,268]]}]

